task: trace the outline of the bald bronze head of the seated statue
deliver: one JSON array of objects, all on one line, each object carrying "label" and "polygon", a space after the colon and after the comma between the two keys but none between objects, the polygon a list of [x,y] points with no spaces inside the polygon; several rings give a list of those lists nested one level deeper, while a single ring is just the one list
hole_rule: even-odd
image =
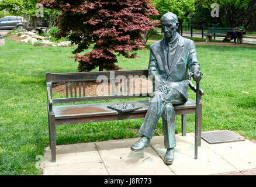
[{"label": "bald bronze head of the seated statue", "polygon": [[172,12],[167,12],[162,16],[161,27],[164,36],[168,40],[172,40],[176,36],[179,27],[178,17]]}]

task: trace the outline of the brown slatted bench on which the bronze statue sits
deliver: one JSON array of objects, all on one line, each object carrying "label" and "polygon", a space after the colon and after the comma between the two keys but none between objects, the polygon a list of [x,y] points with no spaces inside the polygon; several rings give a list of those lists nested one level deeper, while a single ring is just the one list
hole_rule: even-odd
[{"label": "brown slatted bench on which the bronze statue sits", "polygon": [[[96,81],[97,78],[105,77],[107,83],[110,85],[112,94],[110,95],[85,95],[85,82]],[[137,76],[137,77],[136,77]],[[140,79],[137,79],[140,78]],[[75,73],[55,73],[46,74],[47,86],[47,108],[49,119],[49,140],[51,149],[51,161],[56,161],[56,126],[61,124],[75,124],[75,123],[91,123],[103,122],[110,120],[122,119],[136,119],[142,118],[146,115],[149,106],[148,99],[152,91],[141,91],[133,93],[133,81],[150,81],[148,78],[148,70],[133,70],[133,71],[103,71],[103,72],[75,72]],[[103,79],[100,79],[102,81]],[[65,98],[55,98],[52,95],[52,84],[63,82],[65,85]],[[127,83],[128,82],[128,83]],[[151,85],[152,82],[150,81]],[[127,92],[128,87],[128,92]],[[196,92],[195,86],[189,81],[189,87]],[[109,91],[110,92],[110,91]],[[199,95],[199,125],[198,125],[198,146],[201,143],[201,126],[202,126],[202,102],[203,95],[200,89]],[[131,100],[133,98],[147,98],[145,100]],[[107,108],[108,105],[117,102],[106,102],[106,100],[115,99],[130,99],[127,101],[141,106],[141,109],[133,112],[119,113],[115,110]],[[97,103],[80,103],[72,105],[71,102],[85,102],[85,101],[102,101]],[[120,102],[120,101],[119,101]],[[61,105],[57,103],[71,103],[70,105]],[[54,105],[57,104],[57,105]],[[176,105],[174,107],[175,114],[182,116],[182,136],[186,136],[186,115],[195,113],[195,101],[188,100],[184,105]],[[196,137],[196,136],[195,136]],[[196,147],[197,151],[197,147]]]}]

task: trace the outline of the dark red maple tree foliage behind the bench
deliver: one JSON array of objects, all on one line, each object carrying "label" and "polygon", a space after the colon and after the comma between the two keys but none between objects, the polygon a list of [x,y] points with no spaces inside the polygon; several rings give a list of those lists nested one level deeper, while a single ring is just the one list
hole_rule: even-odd
[{"label": "dark red maple tree foliage behind the bench", "polygon": [[[137,50],[144,49],[141,34],[153,29],[156,20],[151,16],[158,11],[151,0],[96,0],[67,1],[43,0],[46,8],[62,12],[59,20],[59,36],[67,36],[78,47],[73,51],[78,71],[99,71],[115,69],[116,56],[138,57]],[[94,44],[89,53],[82,51]]]}]

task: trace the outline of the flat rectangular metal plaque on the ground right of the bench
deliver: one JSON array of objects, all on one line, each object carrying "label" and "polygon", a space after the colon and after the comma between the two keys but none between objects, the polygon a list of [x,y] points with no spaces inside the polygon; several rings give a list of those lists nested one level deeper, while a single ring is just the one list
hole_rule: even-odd
[{"label": "flat rectangular metal plaque on the ground right of the bench", "polygon": [[238,136],[229,130],[202,132],[202,138],[209,144],[244,141],[243,137]]}]

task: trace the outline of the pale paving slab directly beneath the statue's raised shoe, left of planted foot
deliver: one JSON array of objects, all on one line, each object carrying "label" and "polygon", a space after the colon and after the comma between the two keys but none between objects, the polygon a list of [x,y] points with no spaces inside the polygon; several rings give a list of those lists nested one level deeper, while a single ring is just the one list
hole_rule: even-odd
[{"label": "pale paving slab directly beneath the statue's raised shoe, left of planted foot", "polygon": [[151,147],[130,150],[139,138],[97,142],[99,154],[109,175],[174,175]]}]

